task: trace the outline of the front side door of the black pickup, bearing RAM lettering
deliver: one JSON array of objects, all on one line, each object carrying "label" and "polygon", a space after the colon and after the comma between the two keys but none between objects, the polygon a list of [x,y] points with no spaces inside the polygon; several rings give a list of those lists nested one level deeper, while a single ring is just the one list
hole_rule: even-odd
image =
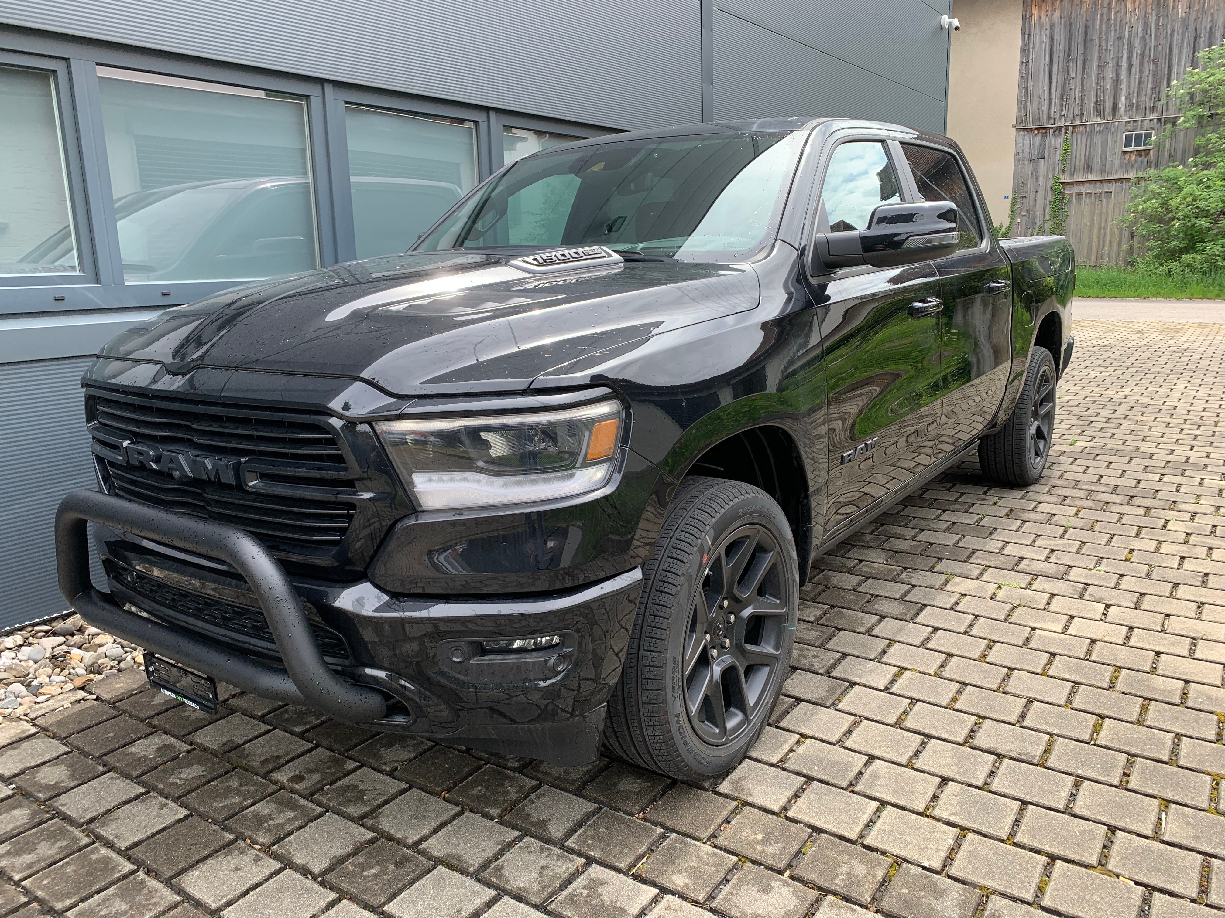
[{"label": "front side door of the black pickup, bearing RAM lettering", "polygon": [[[821,193],[817,231],[865,229],[873,208],[900,201],[887,144],[838,146]],[[816,299],[829,393],[828,537],[938,455],[941,282],[931,262],[843,269]]]}]

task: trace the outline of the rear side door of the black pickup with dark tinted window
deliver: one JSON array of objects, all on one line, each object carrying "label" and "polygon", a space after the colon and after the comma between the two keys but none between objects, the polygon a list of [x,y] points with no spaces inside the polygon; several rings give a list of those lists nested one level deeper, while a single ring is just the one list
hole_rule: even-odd
[{"label": "rear side door of the black pickup with dark tinted window", "polygon": [[903,143],[926,201],[957,204],[962,244],[936,261],[941,277],[941,404],[938,453],[946,455],[991,424],[1012,360],[1012,268],[982,225],[965,171],[949,151]]}]

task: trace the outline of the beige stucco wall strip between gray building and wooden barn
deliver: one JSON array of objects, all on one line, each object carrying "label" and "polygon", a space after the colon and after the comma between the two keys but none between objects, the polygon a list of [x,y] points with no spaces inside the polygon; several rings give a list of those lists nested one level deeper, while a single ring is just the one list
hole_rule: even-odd
[{"label": "beige stucco wall strip between gray building and wooden barn", "polygon": [[948,136],[962,144],[995,223],[1008,220],[1023,0],[953,0]]}]

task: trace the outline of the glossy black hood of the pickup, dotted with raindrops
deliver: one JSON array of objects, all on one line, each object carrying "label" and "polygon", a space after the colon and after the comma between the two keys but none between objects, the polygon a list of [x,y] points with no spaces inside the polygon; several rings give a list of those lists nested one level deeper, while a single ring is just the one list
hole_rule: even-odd
[{"label": "glossy black hood of the pickup, dotted with raindrops", "polygon": [[529,274],[522,257],[386,256],[225,290],[100,356],[365,379],[392,395],[522,390],[550,368],[753,308],[747,266],[627,262]]}]

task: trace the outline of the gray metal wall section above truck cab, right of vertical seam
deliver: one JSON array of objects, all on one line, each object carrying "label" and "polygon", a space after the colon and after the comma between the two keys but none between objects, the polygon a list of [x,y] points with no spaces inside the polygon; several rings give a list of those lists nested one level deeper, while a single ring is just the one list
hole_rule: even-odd
[{"label": "gray metal wall section above truck cab, right of vertical seam", "polygon": [[714,116],[840,115],[942,132],[941,12],[947,0],[715,0]]}]

